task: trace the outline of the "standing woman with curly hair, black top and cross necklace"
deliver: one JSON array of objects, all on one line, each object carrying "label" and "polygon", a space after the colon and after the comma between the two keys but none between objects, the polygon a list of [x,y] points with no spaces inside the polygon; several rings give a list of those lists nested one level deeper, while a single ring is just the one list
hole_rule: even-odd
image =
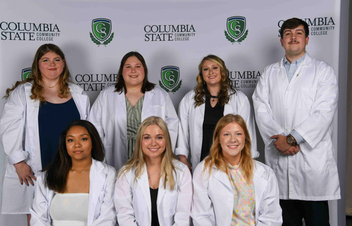
[{"label": "standing woman with curly hair, black top and cross necklace", "polygon": [[197,86],[180,102],[175,155],[190,170],[191,167],[195,169],[209,153],[213,132],[220,118],[238,114],[245,120],[252,138],[251,155],[258,157],[253,111],[247,96],[233,88],[225,62],[215,55],[208,55],[202,59],[198,69]]}]

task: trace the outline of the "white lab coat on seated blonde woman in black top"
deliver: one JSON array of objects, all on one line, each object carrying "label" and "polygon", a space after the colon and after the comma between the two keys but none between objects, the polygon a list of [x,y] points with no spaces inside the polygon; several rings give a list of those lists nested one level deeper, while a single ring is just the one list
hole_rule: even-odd
[{"label": "white lab coat on seated blonde woman in black top", "polygon": [[[158,220],[160,226],[190,225],[192,201],[192,176],[188,167],[180,161],[173,161],[176,169],[175,187],[171,191],[160,178],[156,200]],[[145,169],[145,167],[144,167]],[[148,174],[143,170],[142,175],[134,181],[135,170],[129,170],[117,179],[115,187],[115,208],[117,220],[123,225],[151,224],[151,200]]]}]

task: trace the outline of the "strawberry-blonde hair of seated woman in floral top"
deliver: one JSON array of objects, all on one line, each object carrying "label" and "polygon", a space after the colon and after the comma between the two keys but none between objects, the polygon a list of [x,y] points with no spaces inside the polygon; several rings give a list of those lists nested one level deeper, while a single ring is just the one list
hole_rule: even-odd
[{"label": "strawberry-blonde hair of seated woman in floral top", "polygon": [[245,180],[247,181],[247,183],[249,183],[250,181],[252,181],[252,178],[253,178],[254,161],[250,154],[251,143],[250,143],[248,129],[247,129],[246,123],[239,115],[228,114],[219,120],[213,135],[213,145],[210,148],[208,157],[204,160],[203,173],[209,166],[209,176],[210,176],[212,167],[215,164],[219,170],[227,174],[228,163],[225,161],[224,156],[222,154],[222,148],[220,145],[220,134],[222,129],[229,123],[237,123],[244,131],[245,142],[241,152],[241,160],[240,160],[239,168],[243,173]]}]

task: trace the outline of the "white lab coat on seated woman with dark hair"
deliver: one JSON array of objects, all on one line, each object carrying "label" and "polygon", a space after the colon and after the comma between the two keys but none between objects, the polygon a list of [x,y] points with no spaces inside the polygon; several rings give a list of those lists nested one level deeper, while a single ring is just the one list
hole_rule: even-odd
[{"label": "white lab coat on seated woman with dark hair", "polygon": [[[89,207],[87,226],[115,225],[116,210],[114,207],[114,187],[116,183],[116,170],[114,167],[92,159],[93,163],[89,173]],[[31,212],[32,226],[50,226],[49,213],[51,201],[56,191],[44,186],[44,174],[38,177]]]}]

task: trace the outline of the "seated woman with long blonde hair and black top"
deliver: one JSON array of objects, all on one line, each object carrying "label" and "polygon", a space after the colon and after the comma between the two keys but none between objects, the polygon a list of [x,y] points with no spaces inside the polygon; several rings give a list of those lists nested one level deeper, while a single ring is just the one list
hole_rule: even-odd
[{"label": "seated woman with long blonde hair and black top", "polygon": [[190,225],[191,200],[191,173],[172,153],[165,122],[148,117],[116,181],[119,225]]}]

